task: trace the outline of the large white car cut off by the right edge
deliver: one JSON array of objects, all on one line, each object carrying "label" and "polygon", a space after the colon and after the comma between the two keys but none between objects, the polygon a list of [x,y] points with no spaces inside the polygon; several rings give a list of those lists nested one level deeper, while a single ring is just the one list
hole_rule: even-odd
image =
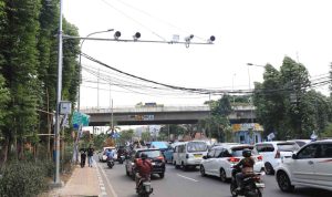
[{"label": "large white car cut off by the right edge", "polygon": [[276,178],[282,191],[292,191],[294,186],[332,190],[332,139],[309,143],[283,159]]}]

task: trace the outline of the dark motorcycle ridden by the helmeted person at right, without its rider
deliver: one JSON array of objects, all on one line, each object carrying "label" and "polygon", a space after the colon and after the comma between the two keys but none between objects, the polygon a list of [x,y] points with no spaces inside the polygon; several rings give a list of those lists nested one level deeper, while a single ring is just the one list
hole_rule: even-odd
[{"label": "dark motorcycle ridden by the helmeted person at right, without its rider", "polygon": [[230,194],[232,197],[245,196],[245,197],[262,197],[262,190],[266,185],[261,180],[263,173],[253,174],[243,178],[243,189],[238,190],[238,184],[236,180],[237,173],[240,173],[239,168],[234,168],[231,172]]}]

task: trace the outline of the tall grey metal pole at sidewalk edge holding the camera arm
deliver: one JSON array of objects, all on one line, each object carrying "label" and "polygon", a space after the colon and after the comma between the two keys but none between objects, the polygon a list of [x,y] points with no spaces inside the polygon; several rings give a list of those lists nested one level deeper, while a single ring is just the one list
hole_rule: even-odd
[{"label": "tall grey metal pole at sidewalk edge holding the camera arm", "polygon": [[60,102],[62,92],[62,0],[60,0],[59,19],[59,49],[58,49],[58,86],[56,86],[56,106],[55,106],[55,127],[54,127],[54,149],[55,149],[55,174],[54,185],[61,186],[60,180]]}]

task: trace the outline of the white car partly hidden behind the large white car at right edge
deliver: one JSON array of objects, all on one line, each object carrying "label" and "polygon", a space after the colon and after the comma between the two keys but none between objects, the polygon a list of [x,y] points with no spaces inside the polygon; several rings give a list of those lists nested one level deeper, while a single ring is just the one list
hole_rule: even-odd
[{"label": "white car partly hidden behind the large white car at right edge", "polygon": [[281,158],[291,157],[300,146],[295,142],[274,141],[257,143],[255,148],[263,158],[266,173],[272,175]]}]

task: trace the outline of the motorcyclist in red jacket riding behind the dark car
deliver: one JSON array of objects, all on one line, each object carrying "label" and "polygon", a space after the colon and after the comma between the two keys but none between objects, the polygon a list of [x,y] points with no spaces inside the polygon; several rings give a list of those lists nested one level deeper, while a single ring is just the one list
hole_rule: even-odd
[{"label": "motorcyclist in red jacket riding behind the dark car", "polygon": [[151,173],[153,169],[152,163],[147,159],[147,155],[145,153],[141,154],[141,158],[135,159],[135,180],[136,180],[136,189],[138,188],[139,182],[142,178],[149,182]]}]

